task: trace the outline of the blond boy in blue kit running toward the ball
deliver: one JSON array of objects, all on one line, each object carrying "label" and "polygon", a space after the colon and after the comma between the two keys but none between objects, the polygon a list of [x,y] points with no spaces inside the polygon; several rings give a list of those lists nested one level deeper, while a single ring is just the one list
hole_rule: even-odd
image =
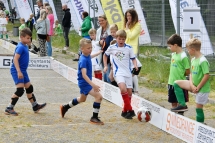
[{"label": "blond boy in blue kit running toward the ball", "polygon": [[78,62],[78,86],[80,88],[81,96],[74,98],[66,105],[61,105],[60,113],[63,118],[68,109],[81,102],[85,102],[87,95],[90,94],[95,98],[95,101],[93,103],[93,116],[91,117],[90,122],[97,125],[104,125],[104,123],[98,118],[102,95],[99,93],[99,86],[92,82],[91,62],[91,58],[98,56],[102,53],[102,51],[100,50],[94,55],[90,55],[92,52],[92,42],[91,40],[85,38],[80,40],[80,47],[82,55],[80,56]]}]

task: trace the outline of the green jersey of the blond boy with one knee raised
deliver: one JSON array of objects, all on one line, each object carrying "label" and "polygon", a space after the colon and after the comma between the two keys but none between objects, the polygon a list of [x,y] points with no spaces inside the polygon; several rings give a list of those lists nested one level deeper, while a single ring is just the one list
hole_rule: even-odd
[{"label": "green jersey of the blond boy with one knee raised", "polygon": [[[202,56],[201,58],[193,58],[191,61],[191,74],[192,74],[192,82],[195,86],[201,82],[202,78],[205,74],[209,73],[209,63],[207,59]],[[210,82],[209,80],[203,85],[203,87],[199,90],[201,93],[210,92]]]}]

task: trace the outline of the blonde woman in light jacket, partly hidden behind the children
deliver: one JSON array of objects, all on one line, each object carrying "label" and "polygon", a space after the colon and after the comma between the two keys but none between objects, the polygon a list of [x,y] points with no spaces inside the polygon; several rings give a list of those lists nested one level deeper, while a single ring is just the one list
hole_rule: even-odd
[{"label": "blonde woman in light jacket, partly hidden behind the children", "polygon": [[[110,29],[109,29],[109,24],[107,21],[107,17],[105,15],[101,15],[98,17],[98,21],[100,24],[100,27],[96,31],[96,44],[103,47],[104,40],[107,38],[108,35],[110,35]],[[105,51],[102,52],[102,56],[104,55]],[[103,60],[101,61],[103,65]],[[104,73],[104,81],[111,83],[109,79],[109,73],[110,73],[110,63],[108,64],[108,70],[106,73]]]}]

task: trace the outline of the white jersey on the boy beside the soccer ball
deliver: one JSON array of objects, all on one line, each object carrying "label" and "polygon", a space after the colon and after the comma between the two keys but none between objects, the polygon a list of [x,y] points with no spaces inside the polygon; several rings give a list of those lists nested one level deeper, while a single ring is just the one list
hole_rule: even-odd
[{"label": "white jersey on the boy beside the soccer ball", "polygon": [[109,46],[105,54],[112,55],[113,74],[115,76],[131,77],[130,59],[135,59],[133,49],[130,45],[118,47],[118,44]]}]

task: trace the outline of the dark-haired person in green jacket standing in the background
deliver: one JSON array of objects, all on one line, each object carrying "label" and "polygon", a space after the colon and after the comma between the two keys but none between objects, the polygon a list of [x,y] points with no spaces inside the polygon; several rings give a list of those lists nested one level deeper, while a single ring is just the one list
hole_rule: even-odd
[{"label": "dark-haired person in green jacket standing in the background", "polygon": [[82,12],[82,18],[84,19],[84,21],[80,28],[81,36],[83,38],[90,39],[88,31],[92,28],[91,18],[88,16],[88,13],[86,11]]}]

